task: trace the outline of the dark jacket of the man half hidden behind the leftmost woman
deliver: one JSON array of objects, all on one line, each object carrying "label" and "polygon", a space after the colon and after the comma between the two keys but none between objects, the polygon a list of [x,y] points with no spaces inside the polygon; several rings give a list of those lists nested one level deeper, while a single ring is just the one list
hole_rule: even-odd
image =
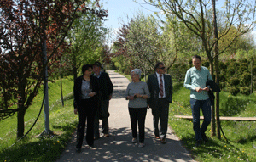
[{"label": "dark jacket of the man half hidden behind the leftmost woman", "polygon": [[102,99],[108,100],[109,96],[113,93],[113,84],[109,78],[108,73],[102,72],[99,78],[96,78],[100,84],[102,92]]}]

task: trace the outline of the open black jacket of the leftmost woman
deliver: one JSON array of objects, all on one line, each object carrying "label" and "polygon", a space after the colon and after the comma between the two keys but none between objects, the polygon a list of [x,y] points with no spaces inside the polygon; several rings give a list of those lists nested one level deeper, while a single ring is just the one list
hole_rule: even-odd
[{"label": "open black jacket of the leftmost woman", "polygon": [[[73,86],[73,107],[79,109],[81,107],[81,87],[82,87],[83,75],[79,76],[76,81],[74,82]],[[98,102],[98,96],[100,94],[100,87],[99,83],[95,76],[90,76],[90,88],[92,92],[96,92],[96,95],[91,98],[91,102]]]}]

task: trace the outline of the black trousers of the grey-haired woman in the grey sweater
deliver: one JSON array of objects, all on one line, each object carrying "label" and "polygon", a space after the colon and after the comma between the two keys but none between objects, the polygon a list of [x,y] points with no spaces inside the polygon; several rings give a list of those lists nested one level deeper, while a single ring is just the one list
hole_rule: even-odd
[{"label": "black trousers of the grey-haired woman in the grey sweater", "polygon": [[137,123],[139,128],[139,142],[144,142],[145,138],[145,119],[147,108],[129,108],[131,119],[132,137],[137,138]]}]

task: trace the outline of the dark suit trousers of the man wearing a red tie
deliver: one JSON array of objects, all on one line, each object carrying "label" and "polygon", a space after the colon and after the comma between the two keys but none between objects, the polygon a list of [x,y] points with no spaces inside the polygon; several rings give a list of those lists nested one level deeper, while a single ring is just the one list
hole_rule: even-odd
[{"label": "dark suit trousers of the man wearing a red tie", "polygon": [[166,138],[169,116],[169,102],[166,100],[166,98],[159,98],[157,107],[152,109],[152,115],[154,135],[160,138]]}]

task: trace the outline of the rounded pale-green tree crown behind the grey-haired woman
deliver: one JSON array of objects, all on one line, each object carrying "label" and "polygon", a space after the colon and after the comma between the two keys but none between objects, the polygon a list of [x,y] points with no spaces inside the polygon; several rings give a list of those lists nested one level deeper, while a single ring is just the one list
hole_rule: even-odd
[{"label": "rounded pale-green tree crown behind the grey-haired woman", "polygon": [[177,36],[182,37],[177,34],[178,27],[173,30],[170,25],[171,21],[161,25],[153,15],[135,14],[128,25],[119,29],[119,54],[125,54],[132,68],[142,68],[146,75],[158,61],[163,61],[166,70],[170,70],[178,51],[183,50],[177,45]]}]

